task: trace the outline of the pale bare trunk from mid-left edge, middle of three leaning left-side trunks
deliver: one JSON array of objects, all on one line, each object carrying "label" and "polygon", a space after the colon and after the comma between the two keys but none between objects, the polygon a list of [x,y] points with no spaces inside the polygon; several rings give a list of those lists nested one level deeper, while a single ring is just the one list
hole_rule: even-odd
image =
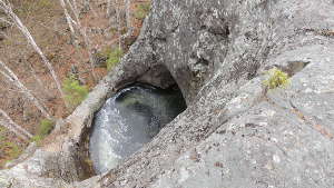
[{"label": "pale bare trunk from mid-left edge, middle of three leaning left-side trunks", "polygon": [[0,70],[0,73],[11,83],[13,83],[13,86],[20,89],[20,91],[28,98],[28,100],[30,100],[46,118],[51,120],[52,117],[48,113],[47,108],[39,102],[39,100],[32,95],[32,92],[28,88],[24,87],[24,85],[19,80],[14,72],[2,61],[0,61],[0,66],[4,69],[4,71]]}]

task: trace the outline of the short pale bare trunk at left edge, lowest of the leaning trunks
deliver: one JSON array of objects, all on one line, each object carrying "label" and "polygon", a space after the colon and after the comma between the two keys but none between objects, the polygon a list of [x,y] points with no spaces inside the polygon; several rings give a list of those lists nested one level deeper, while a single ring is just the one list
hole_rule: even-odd
[{"label": "short pale bare trunk at left edge, lowest of the leaning trunks", "polygon": [[0,125],[26,141],[29,141],[32,138],[30,132],[17,125],[2,109],[0,109]]}]

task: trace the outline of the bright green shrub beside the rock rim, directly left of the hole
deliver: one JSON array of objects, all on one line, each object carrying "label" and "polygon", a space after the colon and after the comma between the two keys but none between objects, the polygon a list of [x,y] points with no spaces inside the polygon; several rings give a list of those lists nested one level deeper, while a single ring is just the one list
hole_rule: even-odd
[{"label": "bright green shrub beside the rock rim, directly left of the hole", "polygon": [[65,92],[65,100],[71,107],[77,107],[88,96],[89,89],[87,86],[82,86],[79,81],[70,76],[65,79],[62,83],[62,90]]}]

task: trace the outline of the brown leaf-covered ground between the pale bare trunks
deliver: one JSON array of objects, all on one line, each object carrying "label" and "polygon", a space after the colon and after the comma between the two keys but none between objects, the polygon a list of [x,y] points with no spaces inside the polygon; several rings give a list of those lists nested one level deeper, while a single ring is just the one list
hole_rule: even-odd
[{"label": "brown leaf-covered ground between the pale bare trunks", "polygon": [[[81,23],[87,27],[91,47],[104,55],[114,46],[117,46],[118,34],[110,28],[106,18],[106,3],[91,2],[95,3],[90,4],[90,10],[81,14]],[[70,31],[59,1],[12,0],[12,3],[16,13],[21,18],[38,46],[52,63],[59,79],[65,80],[75,66],[78,69],[80,80],[92,88],[96,82],[94,82],[91,71],[87,71],[90,69],[87,50],[81,40],[78,40],[77,44],[72,44]],[[132,14],[141,3],[149,2],[147,0],[132,0]],[[141,23],[143,19],[132,17],[135,37],[139,34]],[[40,57],[14,27],[0,26],[0,60],[16,72],[24,86],[47,106],[53,117],[66,118],[71,110],[66,108],[56,83]],[[31,65],[42,86],[32,77],[31,67],[28,65]],[[107,73],[106,68],[101,66],[96,66],[94,71],[99,80]],[[43,119],[38,109],[2,77],[0,77],[0,107],[18,125],[32,135],[36,133],[40,120]],[[0,128],[0,142],[2,139],[2,142],[11,142],[16,146],[0,147],[0,168],[3,168],[4,162],[18,157],[19,152],[28,146],[28,142],[2,127]]]}]

